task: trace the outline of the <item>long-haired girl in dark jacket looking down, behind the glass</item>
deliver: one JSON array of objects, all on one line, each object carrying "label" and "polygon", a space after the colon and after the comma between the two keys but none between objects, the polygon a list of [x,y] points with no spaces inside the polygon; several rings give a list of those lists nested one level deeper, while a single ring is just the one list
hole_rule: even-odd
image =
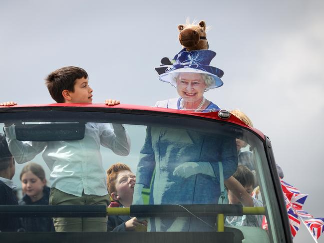
[{"label": "long-haired girl in dark jacket looking down, behind the glass", "polygon": [[[46,186],[45,172],[36,163],[28,163],[20,172],[23,198],[19,205],[48,205],[49,187]],[[21,227],[28,232],[53,232],[52,218],[20,218]]]}]

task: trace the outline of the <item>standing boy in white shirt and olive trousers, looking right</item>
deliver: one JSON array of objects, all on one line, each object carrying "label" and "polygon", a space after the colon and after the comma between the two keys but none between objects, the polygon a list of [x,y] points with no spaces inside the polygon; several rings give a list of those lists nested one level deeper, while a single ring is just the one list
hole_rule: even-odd
[{"label": "standing boy in white shirt and olive trousers, looking right", "polygon": [[[88,74],[79,67],[62,67],[46,78],[51,97],[58,103],[92,103],[92,89],[88,84]],[[105,104],[115,105],[117,100],[106,100]],[[22,142],[18,141],[14,125],[4,124],[9,149],[17,163],[32,160],[37,154],[49,169],[51,190],[50,205],[105,205],[109,195],[102,168],[100,144],[115,154],[127,156],[130,140],[121,124],[87,122],[85,135],[77,141]],[[85,150],[85,148],[88,148]],[[58,232],[104,232],[105,218],[53,218]]]}]

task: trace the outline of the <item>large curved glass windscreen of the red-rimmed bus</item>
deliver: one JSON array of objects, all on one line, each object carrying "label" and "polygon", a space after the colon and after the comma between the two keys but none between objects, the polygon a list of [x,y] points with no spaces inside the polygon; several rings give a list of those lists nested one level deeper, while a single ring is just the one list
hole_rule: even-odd
[{"label": "large curved glass windscreen of the red-rimmed bus", "polygon": [[[203,119],[95,112],[75,112],[69,117],[66,113],[46,116],[34,112],[28,114],[28,119],[22,119],[18,113],[0,116],[1,130],[4,121],[6,126],[15,123],[4,131],[17,162],[12,181],[18,186],[14,190],[20,204],[37,204],[42,197],[46,196],[47,201],[49,197],[49,189],[42,191],[46,184],[42,178],[43,183],[29,189],[24,186],[34,175],[29,173],[27,177],[22,172],[30,161],[44,169],[48,187],[76,197],[107,194],[106,170],[119,162],[136,174],[136,186],[127,173],[125,183],[123,178],[117,181],[116,177],[115,185],[120,187],[110,193],[115,193],[111,196],[120,204],[112,206],[123,207],[125,202],[124,206],[128,207],[127,195],[133,193],[133,205],[148,205],[131,208],[138,221],[147,221],[147,229],[143,223],[132,230],[215,232],[225,223],[225,232],[242,239],[259,239],[259,242],[283,239],[278,204],[270,200],[276,196],[263,143],[255,134],[239,126]],[[15,139],[17,133],[20,140],[27,142]],[[243,215],[242,198],[233,191],[237,201],[233,200],[231,190],[224,188],[224,181],[226,186],[226,180],[238,165],[252,172],[252,185],[241,181],[244,190],[253,195],[252,191],[259,187],[250,206],[265,208],[262,214],[268,221],[267,231],[262,229],[263,215],[251,215],[253,212]],[[234,176],[241,180],[238,175]],[[21,181],[20,177],[23,177]],[[222,193],[225,198],[219,201]],[[55,195],[49,203],[62,204],[60,199],[65,196],[59,192]],[[87,200],[84,204],[91,205],[91,200]],[[217,214],[224,214],[224,222],[217,221]],[[131,219],[120,217],[120,224]],[[41,219],[50,221],[50,217],[32,220],[41,225]],[[116,222],[110,230],[118,226]]]}]

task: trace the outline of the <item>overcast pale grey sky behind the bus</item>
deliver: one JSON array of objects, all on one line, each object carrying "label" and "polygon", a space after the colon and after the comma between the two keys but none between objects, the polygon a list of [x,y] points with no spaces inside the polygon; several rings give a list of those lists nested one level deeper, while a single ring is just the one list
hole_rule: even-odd
[{"label": "overcast pale grey sky behind the bus", "polygon": [[[206,97],[239,108],[272,140],[285,180],[324,217],[324,1],[1,0],[1,101],[53,103],[44,77],[74,65],[94,102],[154,105],[176,97],[154,66],[181,46],[177,25],[206,20],[224,85]],[[312,242],[303,226],[295,242]],[[324,242],[324,237],[319,242]]]}]

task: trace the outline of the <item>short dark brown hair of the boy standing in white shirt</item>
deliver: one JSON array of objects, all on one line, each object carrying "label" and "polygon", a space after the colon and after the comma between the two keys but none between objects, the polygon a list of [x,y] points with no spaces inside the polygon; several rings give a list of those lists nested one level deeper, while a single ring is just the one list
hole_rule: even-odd
[{"label": "short dark brown hair of the boy standing in white shirt", "polygon": [[45,78],[45,84],[50,96],[57,103],[64,103],[62,91],[67,89],[74,92],[75,80],[79,78],[88,78],[88,74],[84,69],[73,66],[62,67],[51,72]]}]

